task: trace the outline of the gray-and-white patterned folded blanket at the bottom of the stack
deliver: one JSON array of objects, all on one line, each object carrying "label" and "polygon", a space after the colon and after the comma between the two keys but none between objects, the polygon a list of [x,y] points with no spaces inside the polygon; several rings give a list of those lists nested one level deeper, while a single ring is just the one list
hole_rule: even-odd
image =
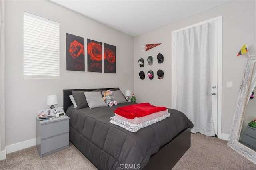
[{"label": "gray-and-white patterned folded blanket at the bottom of the stack", "polygon": [[141,128],[147,127],[149,125],[152,125],[154,123],[157,123],[159,121],[162,121],[170,116],[170,113],[167,113],[165,115],[162,115],[160,117],[156,117],[154,119],[150,119],[148,121],[142,122],[142,123],[130,123],[128,121],[124,121],[122,119],[118,119],[116,116],[110,117],[110,123],[118,125],[122,128],[125,128],[126,130],[129,130],[130,132],[137,132]]}]

